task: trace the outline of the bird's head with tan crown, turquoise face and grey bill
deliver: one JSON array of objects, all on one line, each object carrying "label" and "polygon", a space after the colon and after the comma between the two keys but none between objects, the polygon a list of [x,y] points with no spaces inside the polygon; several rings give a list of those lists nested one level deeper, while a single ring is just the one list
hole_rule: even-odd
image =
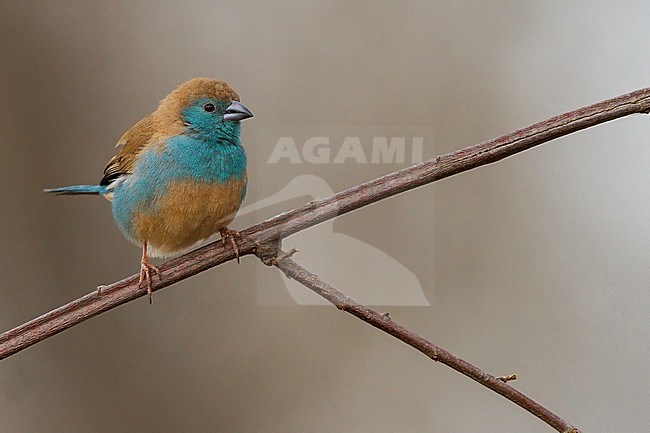
[{"label": "bird's head with tan crown, turquoise face and grey bill", "polygon": [[194,78],[160,102],[158,111],[182,122],[186,133],[209,141],[239,143],[240,121],[253,113],[224,81]]}]

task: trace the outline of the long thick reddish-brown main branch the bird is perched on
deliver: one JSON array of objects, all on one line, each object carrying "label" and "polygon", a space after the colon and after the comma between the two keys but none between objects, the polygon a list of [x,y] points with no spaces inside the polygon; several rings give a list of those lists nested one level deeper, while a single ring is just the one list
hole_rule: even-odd
[{"label": "long thick reddish-brown main branch the bird is perched on", "polygon": [[[241,231],[238,243],[240,256],[256,253],[260,245],[277,244],[293,233],[401,192],[499,161],[590,126],[649,111],[650,88],[646,88],[437,156],[330,197],[312,201]],[[160,290],[234,258],[230,248],[224,248],[221,242],[213,242],[160,266],[162,277],[154,284],[153,290]],[[0,335],[0,359],[146,293],[146,288],[138,285],[138,275],[103,286],[101,290],[93,290],[92,293]],[[388,317],[384,319],[387,320]]]}]

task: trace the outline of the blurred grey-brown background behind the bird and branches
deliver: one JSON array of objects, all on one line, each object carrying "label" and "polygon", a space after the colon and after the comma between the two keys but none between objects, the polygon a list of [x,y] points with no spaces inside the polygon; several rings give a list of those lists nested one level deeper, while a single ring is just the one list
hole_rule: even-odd
[{"label": "blurred grey-brown background behind the bird and branches", "polygon": [[[247,203],[299,174],[338,191],[402,167],[269,165],[259,128],[428,125],[431,156],[649,83],[647,2],[175,3],[2,2],[2,330],[137,270],[105,201],[41,189],[99,180],[191,77],[227,80],[256,114]],[[395,320],[518,373],[585,431],[646,431],[649,133],[642,116],[601,125],[335,230],[417,275],[432,306]],[[277,271],[245,258],[2,361],[0,430],[549,431],[333,307],[263,305],[270,290]]]}]

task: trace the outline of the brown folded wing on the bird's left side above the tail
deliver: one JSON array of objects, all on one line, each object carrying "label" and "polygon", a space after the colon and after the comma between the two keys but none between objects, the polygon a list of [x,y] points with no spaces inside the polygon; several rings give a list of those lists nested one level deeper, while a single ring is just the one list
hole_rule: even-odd
[{"label": "brown folded wing on the bird's left side above the tail", "polygon": [[120,176],[131,173],[136,156],[142,151],[147,143],[150,143],[156,131],[154,113],[144,117],[131,129],[126,131],[117,142],[116,147],[121,146],[104,168],[104,177],[100,185],[108,185]]}]

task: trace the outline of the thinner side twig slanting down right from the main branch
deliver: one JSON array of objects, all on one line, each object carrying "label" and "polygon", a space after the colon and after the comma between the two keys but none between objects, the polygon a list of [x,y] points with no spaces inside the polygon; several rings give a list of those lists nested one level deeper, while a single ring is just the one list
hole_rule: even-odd
[{"label": "thinner side twig slanting down right from the main branch", "polygon": [[544,406],[535,402],[530,397],[527,397],[508,385],[506,382],[508,380],[514,380],[514,378],[516,378],[515,375],[502,377],[492,376],[469,362],[452,355],[442,347],[436,346],[414,332],[411,332],[399,323],[393,321],[393,319],[391,319],[387,314],[381,314],[371,308],[364,307],[354,299],[320,280],[317,275],[312,274],[296,263],[291,259],[294,252],[295,250],[292,250],[289,253],[282,253],[280,256],[277,256],[277,258],[269,258],[268,252],[266,252],[266,256],[260,254],[258,257],[260,257],[260,259],[262,259],[262,261],[267,265],[276,266],[288,278],[298,281],[308,289],[313,290],[323,298],[327,299],[339,310],[343,310],[358,317],[375,328],[379,328],[387,334],[390,334],[398,340],[419,350],[432,360],[442,362],[446,366],[453,368],[457,372],[464,374],[492,391],[501,394],[557,431],[561,433],[580,433],[580,430],[564,421]]}]

